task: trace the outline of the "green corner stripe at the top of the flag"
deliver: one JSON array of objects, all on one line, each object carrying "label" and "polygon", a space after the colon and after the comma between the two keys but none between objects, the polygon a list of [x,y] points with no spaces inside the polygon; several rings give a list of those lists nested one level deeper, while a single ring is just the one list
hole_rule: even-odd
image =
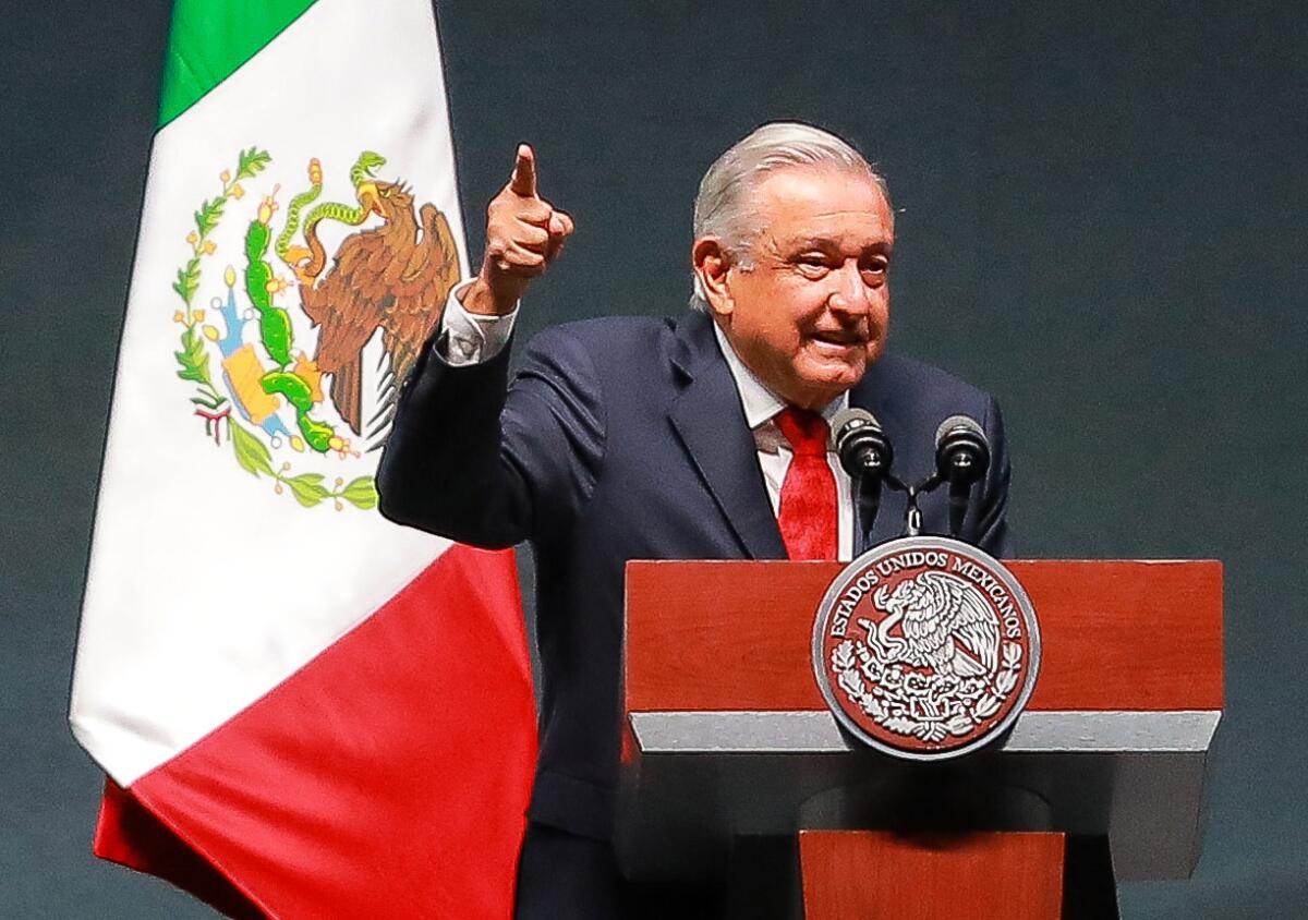
[{"label": "green corner stripe at the top of the flag", "polygon": [[158,127],[204,98],[313,5],[314,0],[177,0]]}]

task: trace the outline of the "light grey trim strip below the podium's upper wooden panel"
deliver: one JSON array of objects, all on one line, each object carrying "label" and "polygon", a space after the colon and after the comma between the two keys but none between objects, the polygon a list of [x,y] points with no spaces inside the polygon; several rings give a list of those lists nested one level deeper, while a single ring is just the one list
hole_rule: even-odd
[{"label": "light grey trim strip below the podium's upper wooden panel", "polygon": [[[1003,750],[1014,754],[1202,752],[1220,711],[1024,712]],[[845,754],[854,745],[829,712],[633,712],[645,754]]]}]

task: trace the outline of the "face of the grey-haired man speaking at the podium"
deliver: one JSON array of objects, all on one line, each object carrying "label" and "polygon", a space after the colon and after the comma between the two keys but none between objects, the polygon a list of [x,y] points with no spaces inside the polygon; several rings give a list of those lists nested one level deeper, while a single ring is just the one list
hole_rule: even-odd
[{"label": "face of the grey-haired man speaking at the podium", "polygon": [[880,357],[889,322],[893,216],[865,174],[789,168],[757,187],[749,268],[731,264],[709,301],[727,340],[786,402],[825,406]]}]

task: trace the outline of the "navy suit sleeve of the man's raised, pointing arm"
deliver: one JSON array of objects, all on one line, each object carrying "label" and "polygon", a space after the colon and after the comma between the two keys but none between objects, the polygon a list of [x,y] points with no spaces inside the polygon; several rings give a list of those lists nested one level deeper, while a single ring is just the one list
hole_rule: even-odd
[{"label": "navy suit sleeve of the man's raised, pointing arm", "polygon": [[594,363],[549,330],[509,385],[509,352],[455,368],[424,348],[378,466],[383,516],[485,548],[548,539],[576,521],[604,454]]}]

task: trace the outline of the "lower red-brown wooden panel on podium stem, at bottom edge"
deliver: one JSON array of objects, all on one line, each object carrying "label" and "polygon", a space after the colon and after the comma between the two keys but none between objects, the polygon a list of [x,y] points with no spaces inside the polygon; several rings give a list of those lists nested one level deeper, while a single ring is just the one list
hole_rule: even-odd
[{"label": "lower red-brown wooden panel on podium stem, at bottom edge", "polygon": [[1062,834],[800,831],[806,920],[1054,920]]}]

